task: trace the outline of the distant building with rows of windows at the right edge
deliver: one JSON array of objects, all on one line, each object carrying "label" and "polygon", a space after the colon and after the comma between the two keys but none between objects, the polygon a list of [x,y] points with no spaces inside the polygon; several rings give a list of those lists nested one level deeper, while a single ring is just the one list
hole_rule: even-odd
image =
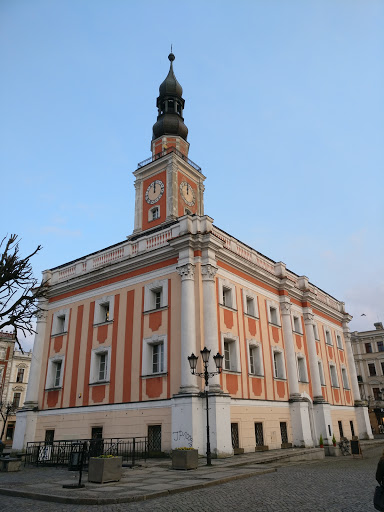
[{"label": "distant building with rows of windows at the right edge", "polygon": [[373,432],[384,429],[384,328],[382,322],[371,331],[352,332],[357,381],[361,398],[367,400]]}]

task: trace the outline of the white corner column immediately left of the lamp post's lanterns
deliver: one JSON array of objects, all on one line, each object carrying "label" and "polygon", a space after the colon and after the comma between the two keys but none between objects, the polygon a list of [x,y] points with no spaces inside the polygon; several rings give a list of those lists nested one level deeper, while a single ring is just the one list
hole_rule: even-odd
[{"label": "white corner column immediately left of the lamp post's lanterns", "polygon": [[[196,352],[195,265],[177,267],[181,277],[181,385],[180,393],[196,393],[196,377],[191,374],[188,356]],[[196,354],[199,355],[199,354]]]}]

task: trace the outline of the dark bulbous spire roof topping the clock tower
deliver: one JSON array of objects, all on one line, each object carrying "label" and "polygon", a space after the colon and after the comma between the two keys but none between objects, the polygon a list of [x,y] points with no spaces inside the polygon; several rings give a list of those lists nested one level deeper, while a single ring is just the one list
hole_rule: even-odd
[{"label": "dark bulbous spire roof topping the clock tower", "polygon": [[183,109],[184,99],[182,98],[183,88],[176,79],[173,71],[173,53],[168,55],[171,63],[165,80],[159,87],[159,97],[156,100],[158,108],[157,121],[153,125],[152,140],[163,135],[178,135],[187,140],[188,128],[184,124]]}]

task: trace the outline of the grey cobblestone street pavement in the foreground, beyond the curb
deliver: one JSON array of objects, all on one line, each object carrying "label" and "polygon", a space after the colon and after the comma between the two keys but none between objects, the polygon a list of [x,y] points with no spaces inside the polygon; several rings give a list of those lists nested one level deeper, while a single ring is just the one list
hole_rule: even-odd
[{"label": "grey cobblestone street pavement in the foreground, beyond the curb", "polygon": [[[118,505],[62,505],[0,496],[4,512],[370,512],[375,470],[382,447],[367,448],[364,459],[326,458],[287,463],[276,473],[236,480],[215,487],[184,492],[140,503]],[[79,491],[77,491],[79,492]]]}]

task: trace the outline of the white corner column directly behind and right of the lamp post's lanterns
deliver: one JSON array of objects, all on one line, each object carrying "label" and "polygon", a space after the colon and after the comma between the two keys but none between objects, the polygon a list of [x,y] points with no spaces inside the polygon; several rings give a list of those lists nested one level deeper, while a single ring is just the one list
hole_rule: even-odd
[{"label": "white corner column directly behind and right of the lamp post's lanterns", "polygon": [[[216,365],[213,356],[219,351],[217,332],[217,299],[215,292],[215,275],[217,267],[202,265],[201,275],[203,279],[203,315],[204,315],[204,345],[211,351],[209,370],[215,371]],[[197,354],[198,355],[198,354]],[[209,390],[221,391],[220,377],[215,375],[209,380]]]}]

